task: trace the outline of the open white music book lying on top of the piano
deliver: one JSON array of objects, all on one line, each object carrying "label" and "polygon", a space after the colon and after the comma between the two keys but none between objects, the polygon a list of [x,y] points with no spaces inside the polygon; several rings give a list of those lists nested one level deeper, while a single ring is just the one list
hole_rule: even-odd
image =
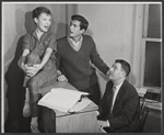
[{"label": "open white music book lying on top of the piano", "polygon": [[82,97],[86,97],[87,94],[87,92],[77,90],[54,88],[38,101],[38,105],[61,112],[69,112],[69,110],[82,100]]}]

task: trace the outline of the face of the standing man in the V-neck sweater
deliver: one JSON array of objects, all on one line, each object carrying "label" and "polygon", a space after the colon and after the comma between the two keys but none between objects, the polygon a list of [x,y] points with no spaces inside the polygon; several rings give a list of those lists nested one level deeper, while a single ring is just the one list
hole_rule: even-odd
[{"label": "face of the standing man in the V-neck sweater", "polygon": [[80,30],[80,22],[72,20],[70,22],[70,37],[80,37],[84,30]]}]

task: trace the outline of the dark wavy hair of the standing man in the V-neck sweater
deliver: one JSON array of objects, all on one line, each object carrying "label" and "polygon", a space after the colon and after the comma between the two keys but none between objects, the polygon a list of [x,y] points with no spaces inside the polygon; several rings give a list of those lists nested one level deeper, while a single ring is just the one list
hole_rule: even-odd
[{"label": "dark wavy hair of the standing man in the V-neck sweater", "polygon": [[89,26],[89,22],[87,20],[82,16],[82,15],[79,15],[79,14],[74,14],[71,16],[71,20],[78,20],[80,22],[80,30],[87,30],[87,26]]}]

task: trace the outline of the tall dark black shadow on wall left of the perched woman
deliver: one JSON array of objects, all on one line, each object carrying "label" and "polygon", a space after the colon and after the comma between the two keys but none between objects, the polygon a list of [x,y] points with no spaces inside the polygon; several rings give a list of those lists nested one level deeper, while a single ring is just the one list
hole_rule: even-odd
[{"label": "tall dark black shadow on wall left of the perched woman", "polygon": [[[5,133],[19,133],[24,125],[22,109],[24,104],[25,90],[23,89],[24,72],[17,66],[17,60],[22,54],[22,38],[19,40],[15,57],[9,66],[5,74],[5,81],[8,85],[7,99],[8,99],[8,117],[4,125]],[[24,126],[25,127],[25,126]],[[26,127],[30,127],[30,125]]]}]

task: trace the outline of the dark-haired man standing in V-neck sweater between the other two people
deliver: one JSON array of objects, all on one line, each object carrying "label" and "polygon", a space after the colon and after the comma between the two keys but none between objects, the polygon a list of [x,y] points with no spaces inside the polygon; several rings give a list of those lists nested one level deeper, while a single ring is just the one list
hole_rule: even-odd
[{"label": "dark-haired man standing in V-neck sweater between the other two people", "polygon": [[91,63],[105,75],[108,75],[109,67],[101,59],[93,38],[83,35],[87,26],[89,22],[82,15],[72,15],[70,34],[57,41],[57,49],[60,69],[68,81],[78,90],[89,92],[89,98],[98,104],[101,91]]}]

